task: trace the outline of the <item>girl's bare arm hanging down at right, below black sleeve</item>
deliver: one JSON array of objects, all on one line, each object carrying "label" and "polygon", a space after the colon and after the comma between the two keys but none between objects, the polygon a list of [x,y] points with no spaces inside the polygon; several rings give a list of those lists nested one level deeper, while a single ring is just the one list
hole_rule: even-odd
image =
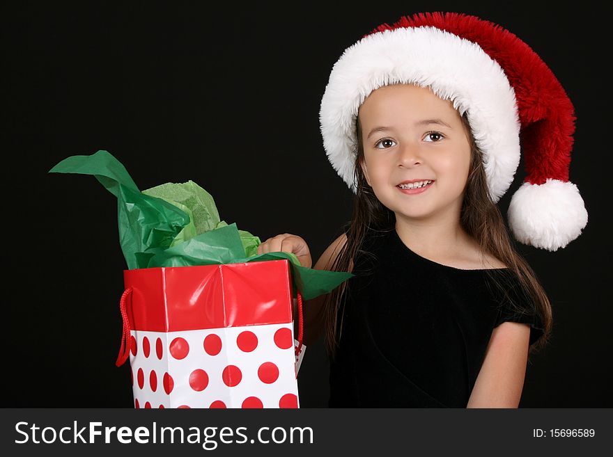
[{"label": "girl's bare arm hanging down at right, below black sleeve", "polygon": [[530,326],[503,322],[490,337],[467,408],[517,408],[520,404],[526,365]]}]

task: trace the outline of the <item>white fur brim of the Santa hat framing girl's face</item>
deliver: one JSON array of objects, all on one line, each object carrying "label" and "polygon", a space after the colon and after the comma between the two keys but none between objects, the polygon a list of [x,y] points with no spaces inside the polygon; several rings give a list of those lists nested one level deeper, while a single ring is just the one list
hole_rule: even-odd
[{"label": "white fur brim of the Santa hat framing girl's face", "polygon": [[520,162],[515,93],[500,65],[479,45],[431,26],[373,33],[334,64],[321,102],[320,129],[327,157],[350,189],[356,192],[359,106],[373,90],[394,83],[430,87],[460,115],[467,113],[497,202]]}]

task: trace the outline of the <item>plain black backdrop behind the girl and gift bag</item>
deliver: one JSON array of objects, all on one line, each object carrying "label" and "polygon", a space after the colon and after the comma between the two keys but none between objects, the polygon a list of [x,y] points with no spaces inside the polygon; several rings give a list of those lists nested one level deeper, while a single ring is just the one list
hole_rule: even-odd
[{"label": "plain black backdrop behind the girl and gift bag", "polygon": [[[115,367],[125,260],[116,199],[93,178],[47,174],[104,149],[139,189],[192,179],[222,220],[262,241],[309,243],[313,264],[351,216],[318,113],[332,65],[382,22],[450,10],[513,31],[575,105],[571,181],[589,214],[557,252],[520,245],[552,300],[552,343],[527,370],[520,406],[612,406],[610,76],[604,13],[582,2],[391,1],[309,6],[204,2],[15,2],[3,6],[2,406],[131,407]],[[162,6],[160,6],[162,5]],[[577,8],[582,8],[578,9]],[[506,214],[515,182],[499,202]],[[307,348],[302,407],[327,406],[323,339]]]}]

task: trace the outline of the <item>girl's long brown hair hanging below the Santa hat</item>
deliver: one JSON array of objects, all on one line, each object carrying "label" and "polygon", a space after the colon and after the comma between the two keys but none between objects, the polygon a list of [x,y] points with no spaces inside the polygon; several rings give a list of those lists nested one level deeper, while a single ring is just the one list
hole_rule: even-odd
[{"label": "girl's long brown hair hanging below the Santa hat", "polygon": [[[538,339],[538,342],[530,346],[529,353],[531,354],[540,351],[548,344],[552,330],[551,304],[543,287],[536,279],[536,274],[513,247],[502,214],[490,197],[486,172],[483,168],[483,154],[479,147],[476,147],[474,138],[470,134],[470,126],[466,115],[462,115],[461,118],[470,138],[471,160],[460,214],[460,224],[479,243],[481,252],[490,252],[509,267],[509,273],[512,273],[519,280],[525,298],[530,298],[535,304],[536,312],[543,322],[544,335]],[[355,125],[357,156],[354,166],[354,183],[357,190],[353,200],[352,218],[342,227],[342,231],[346,233],[347,241],[332,266],[330,266],[329,269],[332,271],[349,271],[352,260],[358,254],[369,255],[369,252],[362,250],[366,230],[394,230],[396,224],[394,211],[382,205],[373,193],[372,187],[366,182],[362,166],[360,166],[364,161],[364,145],[362,144],[362,128],[359,124],[359,117],[356,118]],[[502,292],[502,295],[508,298],[505,276],[500,275],[500,271],[495,268],[486,269],[486,275],[495,284],[495,287]],[[507,270],[502,269],[502,271]],[[352,271],[352,273],[358,272]],[[509,277],[506,276],[506,278]],[[326,346],[328,355],[332,359],[334,359],[336,347],[339,344],[340,335],[337,336],[337,333],[342,330],[342,315],[344,313],[341,312],[340,325],[337,320],[339,308],[341,305],[344,306],[346,301],[347,284],[348,281],[345,281],[341,286],[332,290],[325,296],[323,302],[322,312]],[[513,303],[513,300],[509,301]]]}]

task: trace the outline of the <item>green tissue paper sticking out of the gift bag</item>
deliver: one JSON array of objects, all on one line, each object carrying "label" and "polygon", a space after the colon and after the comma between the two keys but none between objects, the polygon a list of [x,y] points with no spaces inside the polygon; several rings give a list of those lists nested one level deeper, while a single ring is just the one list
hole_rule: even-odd
[{"label": "green tissue paper sticking out of the gift bag", "polygon": [[258,255],[258,236],[221,221],[212,195],[198,184],[166,183],[141,192],[107,151],[68,157],[49,173],[93,175],[116,196],[119,241],[128,269],[288,259],[304,300],[327,294],[353,276],[306,268],[289,252]]}]

